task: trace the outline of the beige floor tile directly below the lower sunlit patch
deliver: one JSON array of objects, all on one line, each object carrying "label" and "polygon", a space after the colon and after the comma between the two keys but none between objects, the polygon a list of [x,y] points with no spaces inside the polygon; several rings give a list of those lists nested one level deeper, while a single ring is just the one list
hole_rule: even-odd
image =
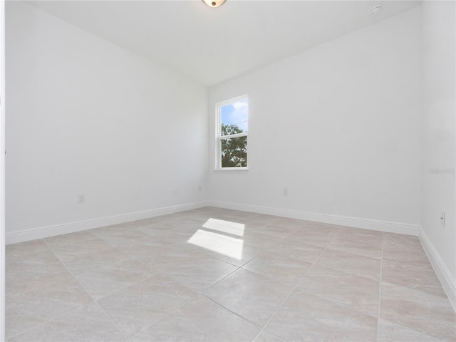
[{"label": "beige floor tile directly below the lower sunlit patch", "polygon": [[237,269],[237,266],[217,259],[195,261],[163,271],[171,279],[193,291],[203,291]]}]

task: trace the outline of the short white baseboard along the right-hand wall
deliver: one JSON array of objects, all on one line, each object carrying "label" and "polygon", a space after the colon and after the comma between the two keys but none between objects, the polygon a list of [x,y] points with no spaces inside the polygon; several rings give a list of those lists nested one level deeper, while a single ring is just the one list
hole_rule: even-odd
[{"label": "short white baseboard along the right-hand wall", "polygon": [[456,279],[452,276],[450,270],[437,252],[437,249],[435,249],[434,245],[430,242],[430,239],[427,238],[423,228],[420,229],[419,237],[427,255],[427,259],[429,259],[432,264],[432,268],[434,269],[435,274],[437,274],[437,278],[440,280],[443,290],[447,294],[448,299],[450,299],[453,309],[456,311]]}]

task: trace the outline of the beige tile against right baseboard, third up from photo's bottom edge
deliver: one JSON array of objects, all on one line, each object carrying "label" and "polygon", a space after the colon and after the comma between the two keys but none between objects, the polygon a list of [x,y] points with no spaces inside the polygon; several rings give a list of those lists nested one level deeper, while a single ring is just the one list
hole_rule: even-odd
[{"label": "beige tile against right baseboard, third up from photo's bottom edge", "polygon": [[427,267],[383,260],[382,281],[447,298],[435,271]]}]

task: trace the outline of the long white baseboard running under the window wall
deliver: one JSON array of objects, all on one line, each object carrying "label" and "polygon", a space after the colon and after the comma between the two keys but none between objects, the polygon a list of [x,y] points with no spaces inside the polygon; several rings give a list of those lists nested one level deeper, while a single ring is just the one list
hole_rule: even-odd
[{"label": "long white baseboard running under the window wall", "polygon": [[420,231],[420,226],[418,224],[388,222],[375,219],[360,219],[357,217],[345,217],[329,214],[316,214],[314,212],[300,212],[297,210],[259,207],[256,205],[237,204],[232,202],[209,201],[208,205],[211,207],[219,207],[224,209],[241,210],[243,212],[256,212],[258,214],[289,217],[291,219],[304,219],[306,221],[337,224],[339,226],[378,230],[380,232],[418,236],[418,232]]}]

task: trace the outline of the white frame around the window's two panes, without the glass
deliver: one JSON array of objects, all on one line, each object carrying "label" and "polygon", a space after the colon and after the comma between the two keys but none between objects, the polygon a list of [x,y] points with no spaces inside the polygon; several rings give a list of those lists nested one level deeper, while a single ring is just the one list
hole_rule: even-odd
[{"label": "white frame around the window's two panes, without the glass", "polygon": [[[249,122],[249,97],[248,95],[238,96],[215,104],[215,171],[245,171],[249,170],[249,158],[247,157],[247,166],[222,167],[222,140],[231,138],[246,137],[249,133],[237,133],[232,135],[222,135],[222,107],[230,103],[247,100],[247,123]],[[248,138],[247,138],[248,141]],[[248,152],[247,152],[248,155]]]}]

